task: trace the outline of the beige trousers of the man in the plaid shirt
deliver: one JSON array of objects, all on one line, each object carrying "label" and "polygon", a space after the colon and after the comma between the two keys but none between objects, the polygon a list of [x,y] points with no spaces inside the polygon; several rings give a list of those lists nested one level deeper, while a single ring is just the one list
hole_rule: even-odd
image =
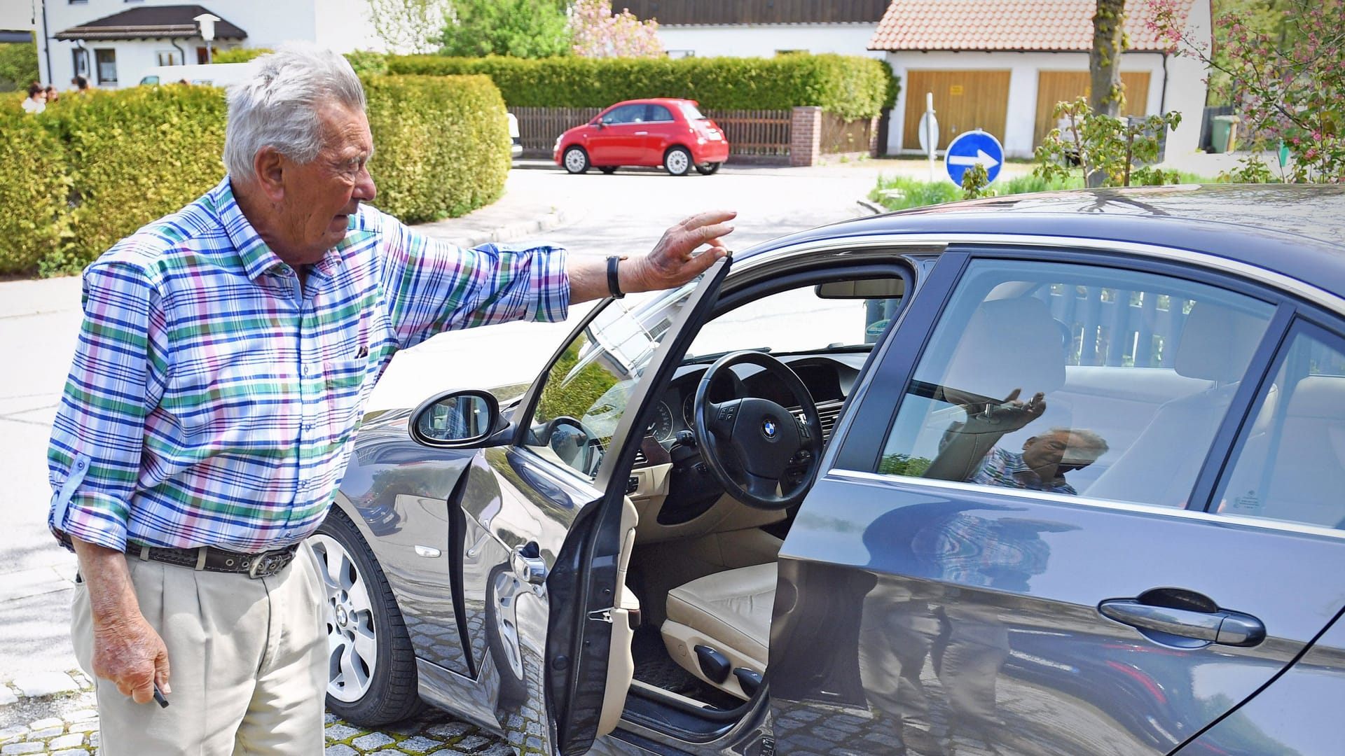
[{"label": "beige trousers of the man in the plaid shirt", "polygon": [[[140,612],[168,647],[169,706],[136,704],[94,679],[101,756],[320,756],[327,690],[324,591],[312,550],[280,574],[198,572],[128,556]],[[71,636],[93,678],[89,591]]]}]

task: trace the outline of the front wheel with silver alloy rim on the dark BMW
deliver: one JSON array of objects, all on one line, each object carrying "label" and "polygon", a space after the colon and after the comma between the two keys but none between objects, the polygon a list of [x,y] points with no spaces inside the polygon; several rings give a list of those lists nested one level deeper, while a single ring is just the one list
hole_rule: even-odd
[{"label": "front wheel with silver alloy rim on the dark BMW", "polygon": [[346,513],[308,538],[327,593],[327,709],[362,726],[414,716],[416,651],[383,570]]}]

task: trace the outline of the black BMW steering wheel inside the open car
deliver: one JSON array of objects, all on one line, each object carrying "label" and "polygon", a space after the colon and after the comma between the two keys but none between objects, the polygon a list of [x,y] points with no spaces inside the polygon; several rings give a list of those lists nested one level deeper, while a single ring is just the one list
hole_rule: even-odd
[{"label": "black BMW steering wheel inside the open car", "polygon": [[[756,365],[783,383],[803,408],[803,420],[769,400],[756,397],[712,402],[710,386],[737,365]],[[822,421],[818,420],[812,394],[788,366],[760,351],[724,355],[701,377],[691,412],[695,416],[693,432],[705,465],[725,491],[763,510],[783,510],[803,500],[822,464]],[[785,469],[800,452],[807,452],[807,472],[785,491]]]}]

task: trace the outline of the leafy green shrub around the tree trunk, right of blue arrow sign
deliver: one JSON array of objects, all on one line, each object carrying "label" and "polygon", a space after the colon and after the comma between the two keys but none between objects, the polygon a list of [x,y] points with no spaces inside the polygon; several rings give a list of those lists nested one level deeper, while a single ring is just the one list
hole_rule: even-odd
[{"label": "leafy green shrub around the tree trunk, right of blue arrow sign", "polygon": [[[1088,186],[1128,187],[1131,184],[1176,183],[1176,171],[1150,165],[1158,160],[1158,136],[1176,129],[1181,113],[1171,112],[1143,120],[1107,116],[1080,97],[1056,105],[1054,117],[1064,126],[1050,129],[1037,147],[1033,175],[1050,180],[1068,179],[1077,165]],[[1093,179],[1096,176],[1098,179]],[[1093,180],[1099,183],[1093,184]]]}]

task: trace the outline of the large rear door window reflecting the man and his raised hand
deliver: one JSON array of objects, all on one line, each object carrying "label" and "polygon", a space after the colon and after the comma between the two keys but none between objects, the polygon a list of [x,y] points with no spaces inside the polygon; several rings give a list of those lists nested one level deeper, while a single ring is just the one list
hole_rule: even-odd
[{"label": "large rear door window reflecting the man and his raised hand", "polygon": [[878,471],[1185,506],[1272,312],[1153,273],[972,261]]}]

